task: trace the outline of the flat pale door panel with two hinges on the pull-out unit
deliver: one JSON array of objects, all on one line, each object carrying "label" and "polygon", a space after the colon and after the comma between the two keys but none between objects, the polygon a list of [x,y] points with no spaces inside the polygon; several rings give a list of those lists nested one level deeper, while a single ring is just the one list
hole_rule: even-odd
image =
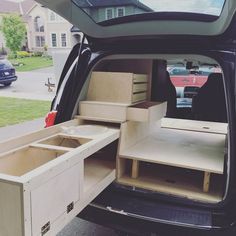
[{"label": "flat pale door panel with two hinges on the pull-out unit", "polygon": [[39,235],[43,226],[52,224],[78,200],[79,164],[31,192],[32,235]]}]

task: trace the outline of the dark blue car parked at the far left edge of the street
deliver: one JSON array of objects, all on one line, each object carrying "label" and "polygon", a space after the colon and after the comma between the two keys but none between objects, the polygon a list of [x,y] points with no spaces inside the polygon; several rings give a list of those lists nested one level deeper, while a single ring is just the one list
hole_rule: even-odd
[{"label": "dark blue car parked at the far left edge of the street", "polygon": [[10,86],[17,80],[15,68],[7,59],[0,59],[0,84]]}]

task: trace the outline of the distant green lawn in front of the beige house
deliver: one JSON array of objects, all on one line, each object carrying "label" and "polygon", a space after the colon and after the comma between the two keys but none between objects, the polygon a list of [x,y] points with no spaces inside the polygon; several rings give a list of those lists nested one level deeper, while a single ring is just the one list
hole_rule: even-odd
[{"label": "distant green lawn in front of the beige house", "polygon": [[22,63],[22,66],[14,66],[16,71],[31,71],[53,65],[52,59],[48,57],[24,57],[18,59],[11,59],[11,63]]}]

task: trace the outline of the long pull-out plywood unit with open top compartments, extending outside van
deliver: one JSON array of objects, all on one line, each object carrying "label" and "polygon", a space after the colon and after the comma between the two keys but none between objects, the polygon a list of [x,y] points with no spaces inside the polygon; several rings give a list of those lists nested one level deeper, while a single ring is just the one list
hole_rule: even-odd
[{"label": "long pull-out plywood unit with open top compartments, extending outside van", "polygon": [[118,138],[73,120],[0,143],[0,234],[56,235],[114,181],[115,162],[92,155]]}]

